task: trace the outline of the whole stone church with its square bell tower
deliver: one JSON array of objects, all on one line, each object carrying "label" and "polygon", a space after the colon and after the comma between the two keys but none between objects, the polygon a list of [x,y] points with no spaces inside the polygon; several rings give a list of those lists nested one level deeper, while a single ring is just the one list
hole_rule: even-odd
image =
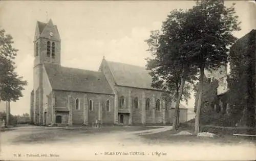
[{"label": "whole stone church with its square bell tower", "polygon": [[[151,86],[144,67],[104,57],[98,71],[61,66],[58,28],[36,23],[31,123],[35,125],[135,125],[172,122],[165,91]],[[186,109],[180,117],[186,121]],[[181,120],[182,120],[181,119]]]}]

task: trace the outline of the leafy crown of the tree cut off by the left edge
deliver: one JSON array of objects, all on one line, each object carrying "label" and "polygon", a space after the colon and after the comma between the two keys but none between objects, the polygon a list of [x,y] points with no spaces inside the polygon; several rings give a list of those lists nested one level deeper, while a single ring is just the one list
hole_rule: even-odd
[{"label": "leafy crown of the tree cut off by the left edge", "polygon": [[22,90],[27,85],[14,71],[16,66],[14,59],[17,55],[11,35],[6,35],[4,29],[0,29],[0,102],[16,101],[23,97]]}]

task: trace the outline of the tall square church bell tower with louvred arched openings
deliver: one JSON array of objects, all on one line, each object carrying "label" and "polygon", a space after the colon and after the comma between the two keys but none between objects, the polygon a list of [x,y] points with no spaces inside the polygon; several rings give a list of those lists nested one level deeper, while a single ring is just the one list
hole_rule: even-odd
[{"label": "tall square church bell tower with louvred arched openings", "polygon": [[[31,120],[34,124],[42,124],[43,115],[43,70],[45,63],[60,65],[60,36],[57,26],[50,19],[47,23],[36,23],[34,36],[34,83],[33,102],[31,103]],[[33,117],[32,117],[33,116]]]}]

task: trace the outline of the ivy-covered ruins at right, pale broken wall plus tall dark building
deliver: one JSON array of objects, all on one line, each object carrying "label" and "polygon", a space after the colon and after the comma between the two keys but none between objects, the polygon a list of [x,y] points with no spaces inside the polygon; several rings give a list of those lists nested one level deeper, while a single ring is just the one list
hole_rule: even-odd
[{"label": "ivy-covered ruins at right, pale broken wall plus tall dark building", "polygon": [[[256,79],[256,65],[255,65],[255,55],[256,55],[256,30],[252,30],[240,39],[238,39],[231,47],[229,60],[230,63],[230,80],[232,82],[231,86],[227,86],[227,69],[226,67],[220,68],[220,70],[214,73],[205,72],[206,77],[211,82],[211,78],[217,78],[219,81],[219,86],[216,91],[216,95],[211,95],[212,98],[204,100],[206,102],[206,107],[204,111],[201,111],[200,116],[204,116],[203,113],[210,112],[210,116],[205,114],[206,117],[219,116],[219,120],[223,117],[229,116],[231,112],[237,113],[233,114],[232,117],[236,117],[231,121],[222,122],[228,126],[233,126],[237,124],[238,126],[245,126],[250,124],[250,120],[255,115],[255,79]],[[206,91],[207,92],[207,91]],[[234,94],[234,95],[233,95]],[[241,95],[238,96],[237,94]],[[203,94],[204,95],[204,94]],[[228,102],[229,96],[237,97],[233,100],[233,107],[237,107],[233,110],[230,102]],[[231,98],[231,97],[230,97]],[[234,99],[234,98],[233,98]],[[207,109],[207,110],[205,110]],[[218,113],[218,114],[217,114]],[[214,118],[214,117],[213,117]],[[218,122],[218,121],[217,121]],[[251,126],[251,125],[248,125]]]}]

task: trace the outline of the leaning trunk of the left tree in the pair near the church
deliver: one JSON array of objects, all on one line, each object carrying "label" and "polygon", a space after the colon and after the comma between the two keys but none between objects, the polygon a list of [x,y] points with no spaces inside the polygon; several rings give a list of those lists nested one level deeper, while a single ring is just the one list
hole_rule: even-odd
[{"label": "leaning trunk of the left tree in the pair near the church", "polygon": [[179,95],[176,101],[176,105],[175,105],[175,110],[174,110],[174,118],[173,118],[173,130],[178,129],[177,128],[177,121],[179,119],[178,117],[178,112],[179,112],[179,107],[180,107],[180,100],[183,94],[183,88],[184,88],[184,84],[185,84],[185,79],[183,77],[181,77],[181,83],[180,83],[180,91],[179,91]]}]

